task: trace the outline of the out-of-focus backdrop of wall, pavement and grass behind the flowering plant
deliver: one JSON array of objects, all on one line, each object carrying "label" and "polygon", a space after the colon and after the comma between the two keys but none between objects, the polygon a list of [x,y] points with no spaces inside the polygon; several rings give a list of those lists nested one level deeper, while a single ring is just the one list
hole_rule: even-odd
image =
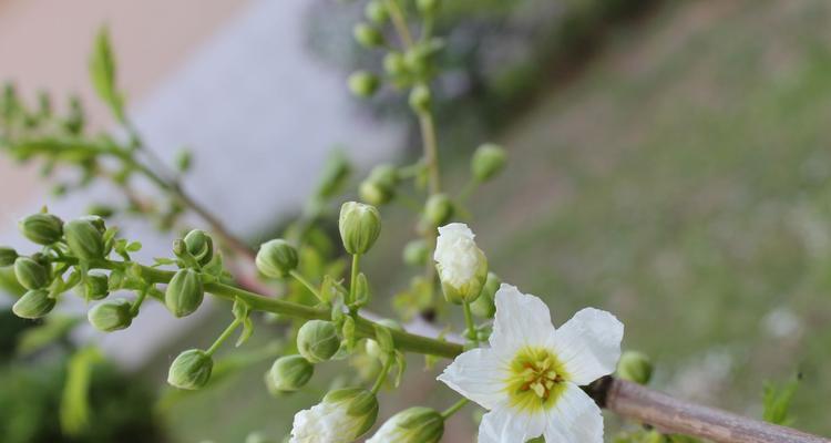
[{"label": "out-of-focus backdrop of wall, pavement and grass behind the flowering plant", "polygon": [[[400,93],[362,102],[345,87],[353,69],[380,65],[350,38],[361,11],[330,0],[0,0],[0,80],[30,97],[76,92],[92,124],[111,127],[86,71],[107,23],[148,145],[171,162],[191,148],[187,189],[255,241],[298,214],[334,147],[359,165],[356,183],[375,163],[418,156]],[[793,425],[831,434],[829,23],[823,0],[448,2],[438,33],[449,69],[437,80],[448,187],[465,183],[481,142],[511,158],[470,205],[492,269],[545,298],[557,324],[585,306],[615,312],[624,347],[650,354],[655,385],[674,395],[759,416],[765,383],[799,373]],[[0,177],[0,243],[13,246],[24,245],[17,219],[44,204],[69,218],[119,198],[106,185],[58,198],[37,165],[6,156]],[[406,216],[384,208],[366,260],[384,313],[382,298],[411,275],[399,265]],[[172,235],[119,224],[145,258],[170,254]],[[3,313],[3,442],[281,439],[316,400],[270,396],[267,353],[206,392],[164,388],[170,361],[207,344],[225,310],[174,321],[154,307],[103,337],[72,328],[76,308],[47,332]],[[267,344],[268,328],[254,341]],[[64,416],[66,374],[84,362],[91,410]],[[386,394],[383,416],[452,398],[422,367],[413,360],[404,389]],[[314,379],[318,392],[330,372]],[[470,440],[469,419],[454,418],[447,441]],[[85,425],[68,435],[72,423]]]}]

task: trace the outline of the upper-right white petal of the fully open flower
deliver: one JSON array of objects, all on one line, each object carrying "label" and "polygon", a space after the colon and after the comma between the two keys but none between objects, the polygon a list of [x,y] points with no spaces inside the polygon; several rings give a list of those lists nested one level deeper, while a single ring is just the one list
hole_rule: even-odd
[{"label": "upper-right white petal of the fully open flower", "polygon": [[557,329],[554,349],[568,380],[583,385],[614,372],[620,359],[623,330],[615,316],[594,308],[581,310]]}]

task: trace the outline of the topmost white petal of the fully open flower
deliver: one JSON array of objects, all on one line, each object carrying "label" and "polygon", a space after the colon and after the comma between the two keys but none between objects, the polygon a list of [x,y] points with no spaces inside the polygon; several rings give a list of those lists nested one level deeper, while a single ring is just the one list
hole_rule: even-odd
[{"label": "topmost white petal of the fully open flower", "polygon": [[524,346],[546,346],[554,334],[548,307],[538,297],[520,292],[502,284],[496,291],[496,320],[491,348],[512,358]]}]

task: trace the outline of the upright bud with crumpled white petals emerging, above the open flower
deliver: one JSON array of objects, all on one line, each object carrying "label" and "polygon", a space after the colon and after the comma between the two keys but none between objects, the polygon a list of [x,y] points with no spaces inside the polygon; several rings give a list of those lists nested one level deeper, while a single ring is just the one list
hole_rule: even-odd
[{"label": "upright bud with crumpled white petals emerging, above the open flower", "polygon": [[444,298],[453,303],[474,301],[488,279],[488,259],[463,223],[439,228],[435,241],[435,268],[439,270]]}]

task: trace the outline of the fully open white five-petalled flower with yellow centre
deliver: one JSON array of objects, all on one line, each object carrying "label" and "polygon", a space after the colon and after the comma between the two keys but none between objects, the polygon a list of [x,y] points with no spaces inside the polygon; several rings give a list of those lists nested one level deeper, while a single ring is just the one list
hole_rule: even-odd
[{"label": "fully open white five-petalled flower with yellow centre", "polygon": [[462,353],[439,375],[447,385],[490,410],[479,443],[602,443],[603,416],[579,389],[615,370],[623,324],[587,308],[560,329],[537,297],[502,285],[491,348]]}]

